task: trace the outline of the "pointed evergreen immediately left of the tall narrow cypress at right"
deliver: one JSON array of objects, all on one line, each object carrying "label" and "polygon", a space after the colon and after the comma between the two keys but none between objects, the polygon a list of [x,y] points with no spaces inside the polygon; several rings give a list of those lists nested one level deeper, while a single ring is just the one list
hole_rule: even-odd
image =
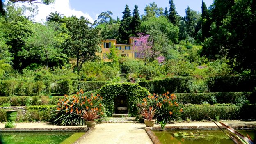
[{"label": "pointed evergreen immediately left of the tall narrow cypress at right", "polygon": [[187,6],[187,9],[186,9],[185,21],[186,21],[187,34],[190,37],[193,37],[194,31],[195,31],[195,27],[194,27],[195,23],[193,21],[192,10],[190,9],[189,6]]}]

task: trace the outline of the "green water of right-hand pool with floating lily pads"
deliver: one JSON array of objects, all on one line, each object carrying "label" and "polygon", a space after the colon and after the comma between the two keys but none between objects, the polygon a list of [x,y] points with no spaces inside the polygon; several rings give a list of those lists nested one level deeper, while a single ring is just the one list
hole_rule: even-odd
[{"label": "green water of right-hand pool with floating lily pads", "polygon": [[[252,139],[256,136],[256,130],[238,130]],[[168,130],[155,131],[162,144],[234,144],[221,130]]]}]

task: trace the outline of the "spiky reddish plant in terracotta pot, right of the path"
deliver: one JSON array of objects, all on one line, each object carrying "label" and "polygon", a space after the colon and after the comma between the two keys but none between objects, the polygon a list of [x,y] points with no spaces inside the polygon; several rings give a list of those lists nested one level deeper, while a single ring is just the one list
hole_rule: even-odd
[{"label": "spiky reddish plant in terracotta pot, right of the path", "polygon": [[147,127],[152,127],[155,124],[155,119],[153,119],[155,110],[153,110],[152,107],[142,107],[141,108],[141,114],[144,119],[144,123]]}]

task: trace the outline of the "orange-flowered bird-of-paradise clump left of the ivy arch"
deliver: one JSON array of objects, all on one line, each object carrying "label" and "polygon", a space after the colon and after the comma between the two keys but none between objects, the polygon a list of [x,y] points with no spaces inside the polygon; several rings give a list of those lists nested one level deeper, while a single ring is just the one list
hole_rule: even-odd
[{"label": "orange-flowered bird-of-paradise clump left of the ivy arch", "polygon": [[101,103],[102,97],[97,95],[86,96],[83,91],[78,92],[73,96],[65,95],[64,99],[60,99],[57,104],[57,109],[51,113],[50,122],[61,126],[80,126],[84,125],[85,121],[82,119],[85,109],[98,110],[98,115],[103,117],[103,106]]}]

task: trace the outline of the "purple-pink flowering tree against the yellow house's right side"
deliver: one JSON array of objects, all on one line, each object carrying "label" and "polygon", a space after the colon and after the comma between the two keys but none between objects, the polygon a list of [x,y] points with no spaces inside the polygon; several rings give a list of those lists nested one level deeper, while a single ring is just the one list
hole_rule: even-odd
[{"label": "purple-pink flowering tree against the yellow house's right side", "polygon": [[133,49],[137,48],[137,51],[139,53],[137,57],[143,58],[146,64],[148,59],[151,57],[152,42],[148,41],[149,39],[148,34],[145,35],[143,33],[139,33],[137,35],[139,36],[139,38],[135,39],[137,42],[136,42],[136,45],[133,45],[134,47]]}]

